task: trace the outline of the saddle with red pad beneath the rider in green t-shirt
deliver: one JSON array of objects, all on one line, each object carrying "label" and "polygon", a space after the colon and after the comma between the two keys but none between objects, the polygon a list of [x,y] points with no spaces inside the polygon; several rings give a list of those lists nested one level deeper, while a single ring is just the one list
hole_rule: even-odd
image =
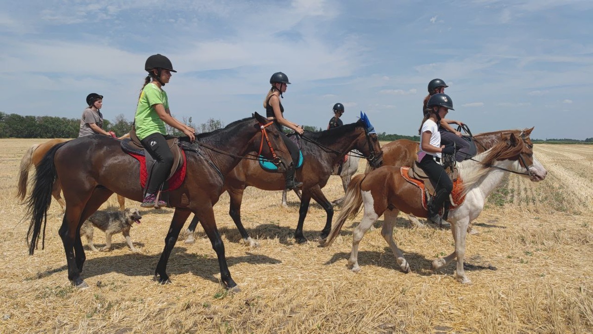
[{"label": "saddle with red pad beneath the rider in green t-shirt", "polygon": [[[167,138],[167,145],[173,153],[173,166],[167,177],[167,181],[163,185],[163,190],[174,190],[178,188],[185,178],[186,171],[186,156],[181,148],[179,138]],[[152,173],[155,159],[151,155],[147,155],[138,136],[136,136],[136,128],[132,127],[130,130],[130,138],[122,140],[121,143],[123,152],[135,157],[140,162],[140,181],[142,188],[146,187],[146,179]]]}]

